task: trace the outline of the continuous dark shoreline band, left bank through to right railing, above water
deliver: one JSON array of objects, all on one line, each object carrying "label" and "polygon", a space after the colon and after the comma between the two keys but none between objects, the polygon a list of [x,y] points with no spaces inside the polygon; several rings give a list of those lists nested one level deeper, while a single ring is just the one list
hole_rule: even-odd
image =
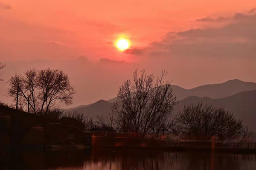
[{"label": "continuous dark shoreline band, left bank through to right railing, above water", "polygon": [[256,142],[167,140],[145,133],[87,132],[81,130],[79,122],[73,118],[63,117],[49,122],[43,117],[5,106],[0,106],[0,122],[1,148],[59,150],[91,146],[256,153]]}]

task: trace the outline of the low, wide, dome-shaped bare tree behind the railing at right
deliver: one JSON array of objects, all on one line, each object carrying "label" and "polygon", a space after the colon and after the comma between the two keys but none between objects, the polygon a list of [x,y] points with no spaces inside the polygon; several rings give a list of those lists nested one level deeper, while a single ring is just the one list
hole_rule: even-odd
[{"label": "low, wide, dome-shaped bare tree behind the railing at right", "polygon": [[181,139],[210,140],[212,136],[219,141],[248,139],[248,128],[241,120],[224,108],[213,108],[211,105],[184,106],[176,119],[172,132]]}]

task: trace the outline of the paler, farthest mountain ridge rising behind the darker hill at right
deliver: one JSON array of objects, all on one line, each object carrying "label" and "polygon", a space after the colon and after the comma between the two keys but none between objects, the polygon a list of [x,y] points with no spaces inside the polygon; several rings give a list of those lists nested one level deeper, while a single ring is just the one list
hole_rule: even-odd
[{"label": "paler, farthest mountain ridge rising behind the darker hill at right", "polygon": [[[219,99],[242,91],[256,90],[256,83],[243,82],[239,79],[229,80],[220,84],[202,85],[192,89],[184,89],[177,85],[172,85],[172,90],[177,96],[177,100],[185,99],[189,96],[209,97],[211,99]],[[108,100],[113,103],[116,98]]]}]

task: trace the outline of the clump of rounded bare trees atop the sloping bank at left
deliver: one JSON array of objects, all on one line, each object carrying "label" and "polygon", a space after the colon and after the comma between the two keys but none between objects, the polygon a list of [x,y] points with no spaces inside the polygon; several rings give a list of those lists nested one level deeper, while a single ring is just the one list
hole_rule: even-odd
[{"label": "clump of rounded bare trees atop the sloping bank at left", "polygon": [[70,105],[75,90],[70,85],[67,74],[48,68],[39,71],[31,69],[24,75],[15,74],[9,80],[8,93],[14,98],[16,105],[25,103],[28,112],[32,111],[42,116],[57,102]]}]

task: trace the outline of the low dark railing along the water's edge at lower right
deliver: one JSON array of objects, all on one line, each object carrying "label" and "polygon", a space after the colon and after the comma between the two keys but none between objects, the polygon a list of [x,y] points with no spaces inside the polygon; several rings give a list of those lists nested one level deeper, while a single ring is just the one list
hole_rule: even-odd
[{"label": "low dark railing along the water's edge at lower right", "polygon": [[[176,147],[211,147],[212,141],[160,140],[160,144]],[[215,147],[256,149],[256,142],[221,142],[215,141]]]}]

